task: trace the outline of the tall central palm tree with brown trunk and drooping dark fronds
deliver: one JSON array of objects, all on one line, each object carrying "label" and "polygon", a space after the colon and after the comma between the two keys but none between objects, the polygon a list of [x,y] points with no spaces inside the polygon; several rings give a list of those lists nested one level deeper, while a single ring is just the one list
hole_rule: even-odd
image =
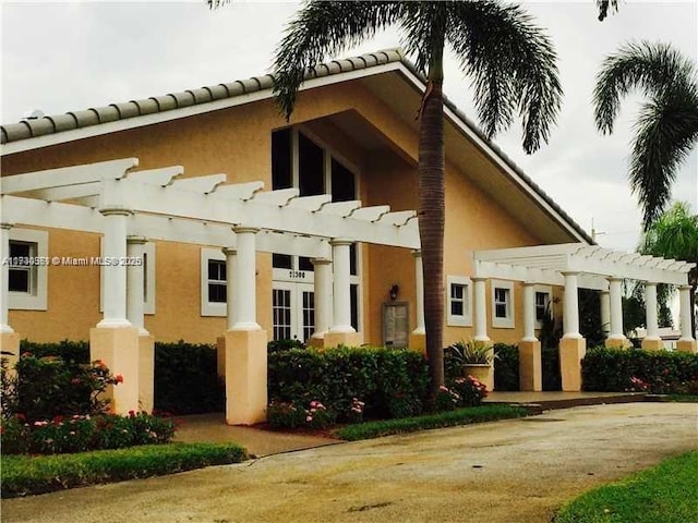
[{"label": "tall central palm tree with brown trunk and drooping dark fronds", "polygon": [[[226,0],[209,0],[209,4]],[[493,0],[448,2],[306,1],[287,27],[274,63],[278,107],[291,117],[303,75],[327,56],[397,26],[428,87],[420,109],[419,229],[424,324],[432,392],[444,382],[444,48],[472,78],[480,122],[489,136],[522,119],[524,149],[546,142],[562,88],[549,38],[518,5]]]}]

